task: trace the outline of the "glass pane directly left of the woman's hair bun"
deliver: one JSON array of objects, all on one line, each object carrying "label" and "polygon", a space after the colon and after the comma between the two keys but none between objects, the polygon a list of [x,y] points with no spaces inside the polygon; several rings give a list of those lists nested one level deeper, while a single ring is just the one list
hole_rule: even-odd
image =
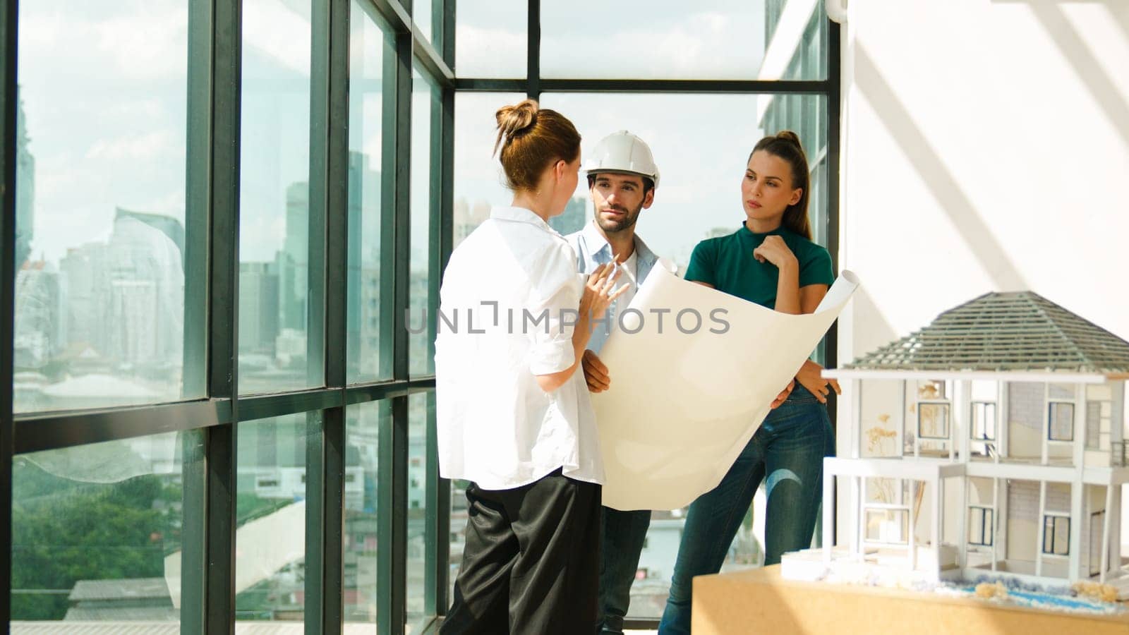
[{"label": "glass pane directly left of the woman's hair bun", "polygon": [[[462,11],[460,11],[462,12]],[[490,217],[491,206],[509,205],[514,193],[495,156],[495,113],[525,98],[517,93],[455,94],[455,246]]]}]

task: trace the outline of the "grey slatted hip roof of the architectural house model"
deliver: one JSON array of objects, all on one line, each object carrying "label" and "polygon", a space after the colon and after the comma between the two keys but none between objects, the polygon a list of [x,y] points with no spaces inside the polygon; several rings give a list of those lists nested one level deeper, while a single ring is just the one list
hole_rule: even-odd
[{"label": "grey slatted hip roof of the architectural house model", "polygon": [[846,367],[1112,375],[1129,373],[1129,342],[1036,293],[989,293]]}]

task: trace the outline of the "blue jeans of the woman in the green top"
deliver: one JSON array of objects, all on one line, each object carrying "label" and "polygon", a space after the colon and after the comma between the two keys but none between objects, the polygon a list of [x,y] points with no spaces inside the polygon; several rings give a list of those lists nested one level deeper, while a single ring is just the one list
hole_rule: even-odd
[{"label": "blue jeans of the woman in the green top", "polygon": [[833,455],[834,449],[826,406],[797,383],[788,401],[769,412],[721,482],[690,505],[659,635],[690,633],[693,577],[721,569],[765,475],[764,565],[778,564],[785,551],[811,546],[823,458]]}]

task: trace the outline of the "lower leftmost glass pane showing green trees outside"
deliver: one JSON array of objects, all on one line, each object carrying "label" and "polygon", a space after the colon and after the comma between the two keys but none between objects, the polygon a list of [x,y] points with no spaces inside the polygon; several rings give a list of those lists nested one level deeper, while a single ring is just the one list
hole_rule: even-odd
[{"label": "lower leftmost glass pane showing green trees outside", "polygon": [[183,464],[184,445],[202,455],[202,440],[191,430],[16,456],[11,619],[107,633],[180,621],[183,475],[203,469]]}]

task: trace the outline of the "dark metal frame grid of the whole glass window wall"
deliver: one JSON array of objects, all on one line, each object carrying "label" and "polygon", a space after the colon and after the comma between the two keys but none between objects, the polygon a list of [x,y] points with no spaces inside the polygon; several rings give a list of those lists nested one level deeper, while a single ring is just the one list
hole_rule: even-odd
[{"label": "dark metal frame grid of the whole glass window wall", "polygon": [[[434,403],[434,375],[410,377],[408,340],[403,311],[408,306],[406,261],[410,247],[409,175],[411,154],[411,72],[413,67],[438,87],[438,105],[432,113],[430,210],[429,210],[429,305],[438,297],[439,272],[452,250],[452,184],[454,95],[457,90],[516,90],[537,98],[544,90],[596,93],[773,93],[823,95],[828,116],[826,166],[828,218],[822,230],[838,270],[839,236],[839,147],[840,147],[840,27],[829,23],[825,58],[828,77],[821,80],[733,81],[733,80],[590,80],[540,77],[540,2],[528,2],[527,77],[493,80],[456,77],[454,33],[456,0],[432,0],[430,16],[434,37],[422,37],[412,21],[411,0],[357,0],[366,12],[383,23],[394,40],[394,55],[384,73],[388,88],[384,137],[383,169],[390,234],[394,235],[385,261],[396,263],[391,279],[393,341],[388,349],[393,376],[387,381],[349,384],[345,348],[344,250],[327,245],[348,244],[348,227],[342,215],[333,214],[345,205],[348,173],[348,129],[330,125],[348,121],[349,0],[312,0],[312,107],[310,107],[310,296],[313,307],[308,331],[308,373],[317,377],[314,388],[272,394],[238,394],[237,324],[234,306],[238,294],[239,217],[239,133],[242,80],[242,11],[239,3],[208,0],[190,2],[189,27],[189,175],[186,191],[192,205],[207,209],[196,223],[186,226],[187,250],[192,250],[186,270],[186,311],[202,338],[185,340],[185,381],[198,376],[202,399],[135,407],[90,409],[68,412],[11,415],[12,353],[0,347],[0,411],[8,418],[0,426],[0,472],[11,475],[15,454],[75,447],[86,444],[183,432],[203,438],[200,469],[185,470],[184,480],[184,577],[182,580],[182,629],[185,632],[228,632],[235,615],[235,492],[237,424],[266,417],[307,414],[309,437],[306,467],[306,628],[310,632],[340,634],[342,624],[342,583],[344,565],[341,546],[344,536],[344,435],[348,406],[378,401],[391,410],[388,425],[382,424],[378,463],[378,510],[382,540],[378,556],[378,633],[402,633],[405,617],[405,522],[409,502],[408,395],[425,392]],[[0,43],[3,64],[0,102],[3,112],[3,154],[0,179],[16,183],[16,54],[18,51],[18,0],[6,0],[0,14]],[[816,10],[822,10],[822,7]],[[822,18],[821,18],[822,19]],[[806,59],[806,58],[805,58]],[[0,221],[0,245],[15,252],[15,188],[0,193],[5,207]],[[384,252],[382,251],[382,254]],[[11,341],[15,289],[11,259],[0,264],[0,339]],[[191,275],[190,275],[191,273]],[[189,330],[186,330],[187,333]],[[828,333],[821,362],[835,365],[837,331]],[[191,391],[190,391],[191,392]],[[832,417],[834,408],[829,408]],[[434,430],[434,407],[429,408],[429,430]],[[382,419],[383,420],[383,419]],[[159,424],[155,424],[159,421]],[[427,441],[427,467],[437,461],[435,435]],[[204,467],[205,466],[205,467]],[[11,543],[11,490],[3,488],[0,501],[0,536]],[[446,502],[450,484],[429,478],[426,484],[427,566],[426,612],[432,618],[446,611],[447,541],[449,536]],[[443,504],[440,504],[443,502]],[[210,563],[204,566],[204,563]],[[0,556],[0,618],[10,617],[10,549]],[[653,620],[634,620],[634,627],[651,627]]]}]

